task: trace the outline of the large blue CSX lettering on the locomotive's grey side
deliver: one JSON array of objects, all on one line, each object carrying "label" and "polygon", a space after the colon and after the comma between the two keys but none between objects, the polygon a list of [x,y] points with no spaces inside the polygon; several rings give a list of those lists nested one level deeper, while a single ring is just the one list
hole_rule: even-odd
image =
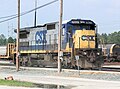
[{"label": "large blue CSX lettering on the locomotive's grey side", "polygon": [[46,34],[47,34],[47,30],[37,31],[35,34],[36,44],[47,43]]}]

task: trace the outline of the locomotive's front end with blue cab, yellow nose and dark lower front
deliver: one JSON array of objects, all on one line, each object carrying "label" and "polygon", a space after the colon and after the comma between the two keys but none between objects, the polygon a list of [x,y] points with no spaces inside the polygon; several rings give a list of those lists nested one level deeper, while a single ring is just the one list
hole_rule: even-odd
[{"label": "locomotive's front end with blue cab, yellow nose and dark lower front", "polygon": [[[69,47],[66,47],[71,48],[73,65],[81,68],[101,67],[102,49],[98,48],[96,25],[93,21],[73,19],[65,24],[63,32],[66,34],[66,42],[69,43]],[[76,60],[76,56],[79,59]]]}]

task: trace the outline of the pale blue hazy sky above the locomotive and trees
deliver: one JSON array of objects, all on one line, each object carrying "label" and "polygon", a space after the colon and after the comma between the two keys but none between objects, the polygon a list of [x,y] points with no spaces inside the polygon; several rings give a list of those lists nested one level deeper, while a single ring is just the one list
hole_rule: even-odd
[{"label": "pale blue hazy sky above the locomotive and trees", "polygon": [[[37,6],[53,0],[37,0]],[[63,20],[90,19],[98,25],[99,33],[120,31],[120,0],[63,0]],[[17,13],[17,0],[0,0],[0,17]],[[21,12],[35,7],[35,0],[21,0]],[[4,19],[0,19],[2,21]],[[59,1],[37,10],[37,25],[59,20]],[[17,19],[0,23],[0,33],[13,36]],[[21,17],[21,27],[34,25],[34,12]],[[9,30],[8,30],[9,29]],[[9,33],[8,33],[9,32]]]}]

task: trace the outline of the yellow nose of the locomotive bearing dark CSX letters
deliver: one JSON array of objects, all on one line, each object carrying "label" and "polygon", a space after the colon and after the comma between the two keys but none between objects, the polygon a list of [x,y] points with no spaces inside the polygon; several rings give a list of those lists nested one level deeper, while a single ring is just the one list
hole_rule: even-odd
[{"label": "yellow nose of the locomotive bearing dark CSX letters", "polygon": [[76,48],[95,48],[94,31],[77,30],[74,40]]}]

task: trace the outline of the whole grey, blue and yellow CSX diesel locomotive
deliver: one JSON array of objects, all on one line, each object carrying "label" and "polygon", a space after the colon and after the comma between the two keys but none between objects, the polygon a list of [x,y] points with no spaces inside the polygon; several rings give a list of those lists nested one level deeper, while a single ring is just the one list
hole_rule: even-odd
[{"label": "whole grey, blue and yellow CSX diesel locomotive", "polygon": [[[25,66],[57,66],[59,22],[20,29],[20,59]],[[62,66],[101,67],[96,24],[91,20],[71,19],[62,24]]]}]

